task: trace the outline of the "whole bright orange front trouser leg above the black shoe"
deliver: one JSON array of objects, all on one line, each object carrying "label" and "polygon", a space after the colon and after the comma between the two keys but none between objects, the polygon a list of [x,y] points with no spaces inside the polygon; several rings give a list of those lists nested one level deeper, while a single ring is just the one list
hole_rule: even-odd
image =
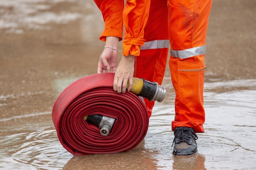
[{"label": "whole bright orange front trouser leg above the black shoe", "polygon": [[211,0],[168,0],[169,67],[175,88],[175,120],[204,132],[204,55]]}]

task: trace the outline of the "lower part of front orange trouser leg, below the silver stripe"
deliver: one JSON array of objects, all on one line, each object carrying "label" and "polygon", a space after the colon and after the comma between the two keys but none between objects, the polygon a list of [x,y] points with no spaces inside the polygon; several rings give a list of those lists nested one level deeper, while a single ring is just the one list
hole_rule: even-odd
[{"label": "lower part of front orange trouser leg, below the silver stripe", "polygon": [[171,56],[169,65],[176,93],[175,120],[172,122],[172,129],[186,126],[196,132],[204,132],[204,55],[187,59]]}]

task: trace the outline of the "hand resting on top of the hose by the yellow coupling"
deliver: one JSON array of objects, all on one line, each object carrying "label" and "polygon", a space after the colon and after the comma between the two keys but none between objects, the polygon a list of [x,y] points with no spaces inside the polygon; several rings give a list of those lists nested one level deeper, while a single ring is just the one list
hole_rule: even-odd
[{"label": "hand resting on top of the hose by the yellow coupling", "polygon": [[114,77],[113,89],[117,93],[125,93],[127,82],[129,81],[128,91],[132,89],[132,77],[134,73],[134,57],[133,55],[122,55],[121,61],[117,66]]}]

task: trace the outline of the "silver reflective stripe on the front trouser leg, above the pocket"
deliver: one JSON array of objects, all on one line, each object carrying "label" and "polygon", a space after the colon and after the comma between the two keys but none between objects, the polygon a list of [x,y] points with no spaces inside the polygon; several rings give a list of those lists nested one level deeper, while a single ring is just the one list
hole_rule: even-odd
[{"label": "silver reflective stripe on the front trouser leg, above the pocket", "polygon": [[205,45],[193,47],[191,49],[180,50],[180,51],[179,50],[170,50],[170,52],[171,52],[171,56],[177,57],[180,59],[184,59],[184,58],[193,57],[195,55],[205,54]]}]

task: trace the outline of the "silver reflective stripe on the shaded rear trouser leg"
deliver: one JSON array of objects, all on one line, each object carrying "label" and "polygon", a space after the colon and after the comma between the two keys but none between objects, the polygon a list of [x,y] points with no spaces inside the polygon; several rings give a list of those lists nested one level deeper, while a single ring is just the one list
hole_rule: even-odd
[{"label": "silver reflective stripe on the shaded rear trouser leg", "polygon": [[163,48],[169,48],[170,42],[169,40],[153,40],[144,42],[144,46],[141,46],[141,50],[148,50],[148,49],[163,49]]}]

